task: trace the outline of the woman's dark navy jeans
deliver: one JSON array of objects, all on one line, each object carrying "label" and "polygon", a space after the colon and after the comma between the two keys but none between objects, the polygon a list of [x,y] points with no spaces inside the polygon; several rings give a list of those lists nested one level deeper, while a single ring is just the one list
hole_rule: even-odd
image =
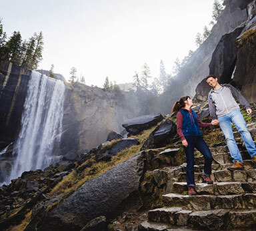
[{"label": "woman's dark navy jeans", "polygon": [[187,158],[187,186],[195,186],[194,148],[197,148],[205,158],[205,164],[203,167],[203,174],[205,176],[211,175],[211,162],[213,161],[213,157],[211,156],[211,151],[202,136],[185,136],[185,138],[189,144],[187,147],[183,146]]}]

